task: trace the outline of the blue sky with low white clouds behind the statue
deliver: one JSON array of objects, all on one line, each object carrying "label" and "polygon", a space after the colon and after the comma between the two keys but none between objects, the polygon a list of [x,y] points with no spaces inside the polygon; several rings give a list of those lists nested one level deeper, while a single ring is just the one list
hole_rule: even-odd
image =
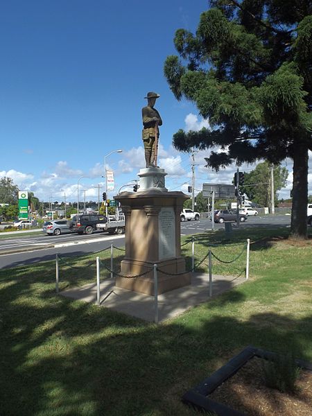
[{"label": "blue sky with low white clouds behind the statue", "polygon": [[[160,94],[163,119],[159,166],[166,187],[186,191],[191,159],[171,146],[179,129],[207,125],[187,101],[177,102],[163,75],[175,53],[177,28],[196,31],[207,0],[3,1],[0,15],[0,176],[40,200],[97,199],[104,190],[104,158],[115,192],[144,168],[141,107],[148,91]],[[149,5],[152,6],[149,6]],[[231,183],[235,166],[215,173],[196,153],[196,189]],[[311,156],[311,155],[310,155]],[[311,157],[310,157],[311,162]],[[291,171],[291,161],[284,165]],[[311,163],[310,163],[311,164]],[[243,166],[252,170],[254,166]],[[288,198],[292,175],[280,196]],[[310,166],[312,193],[312,166]],[[126,188],[123,188],[123,190]]]}]

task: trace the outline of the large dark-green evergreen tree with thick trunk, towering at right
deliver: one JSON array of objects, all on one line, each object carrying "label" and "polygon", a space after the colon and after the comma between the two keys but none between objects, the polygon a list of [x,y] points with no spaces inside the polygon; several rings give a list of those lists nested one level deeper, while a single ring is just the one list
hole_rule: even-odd
[{"label": "large dark-green evergreen tree with thick trunk, towering at right", "polygon": [[[293,159],[291,231],[306,238],[312,150],[311,0],[214,0],[196,35],[179,29],[164,73],[177,99],[196,103],[211,128],[179,130],[182,151],[214,149],[207,166]],[[218,149],[216,151],[216,148]]]}]

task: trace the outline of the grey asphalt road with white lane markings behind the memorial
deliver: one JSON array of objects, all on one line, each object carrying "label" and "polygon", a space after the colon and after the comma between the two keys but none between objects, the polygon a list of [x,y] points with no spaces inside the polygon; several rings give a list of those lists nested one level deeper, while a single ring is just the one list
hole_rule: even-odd
[{"label": "grey asphalt road with white lane markings behind the memorial", "polygon": [[[250,216],[248,221],[240,224],[240,227],[290,227],[290,224],[290,216]],[[181,223],[181,235],[209,231],[211,225],[211,221],[208,218],[202,218],[199,221],[187,221]],[[236,227],[235,224],[233,226]],[[224,224],[215,224],[215,229],[224,229],[224,227]],[[78,234],[64,234],[60,236],[28,234],[27,236],[22,236],[19,234],[16,237],[10,236],[9,238],[0,239],[0,268],[22,266],[55,259],[56,253],[78,256],[104,250],[110,247],[111,244],[115,247],[123,247],[124,236],[109,235],[103,232],[96,232],[90,236],[79,236]],[[44,246],[46,248],[42,248]],[[19,252],[4,254],[15,250],[19,250]]]}]

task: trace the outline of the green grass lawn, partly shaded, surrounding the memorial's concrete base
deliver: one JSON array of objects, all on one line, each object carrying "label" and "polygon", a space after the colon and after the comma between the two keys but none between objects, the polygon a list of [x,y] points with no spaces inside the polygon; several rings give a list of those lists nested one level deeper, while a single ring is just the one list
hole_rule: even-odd
[{"label": "green grass lawn, partly shaded, surrounding the memorial's concrete base", "polygon": [[[211,244],[230,260],[250,238],[250,279],[158,327],[56,296],[54,262],[0,270],[0,415],[195,415],[184,392],[247,345],[312,361],[311,236],[239,229],[223,241],[223,233],[196,234],[196,262]],[[190,267],[191,244],[182,250]],[[94,257],[62,263],[60,290],[94,281]],[[213,271],[244,267],[242,256],[214,260]]]}]

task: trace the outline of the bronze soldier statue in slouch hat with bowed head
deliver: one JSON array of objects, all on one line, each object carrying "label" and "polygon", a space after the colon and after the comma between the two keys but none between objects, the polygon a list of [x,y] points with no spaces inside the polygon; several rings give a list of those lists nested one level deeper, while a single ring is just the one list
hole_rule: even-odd
[{"label": "bronze soldier statue in slouch hat with bowed head", "polygon": [[154,108],[156,98],[159,98],[159,94],[155,92],[148,92],[147,96],[148,105],[142,108],[142,119],[144,128],[142,130],[142,139],[144,143],[144,152],[147,168],[154,168],[157,166],[157,149],[159,129],[158,126],[162,125],[162,119],[159,116],[159,112]]}]

